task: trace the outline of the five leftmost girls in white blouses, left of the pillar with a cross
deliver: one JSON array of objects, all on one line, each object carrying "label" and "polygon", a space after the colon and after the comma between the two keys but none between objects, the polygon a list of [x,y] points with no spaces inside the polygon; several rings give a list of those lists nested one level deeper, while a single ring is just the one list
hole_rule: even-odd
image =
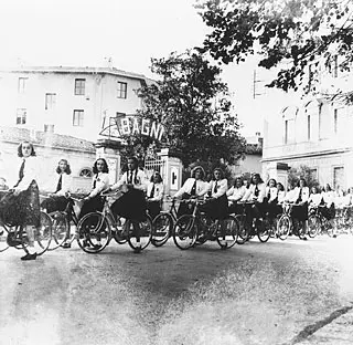
[{"label": "five leftmost girls in white blouses, left of the pillar with a cross", "polygon": [[[66,159],[61,159],[56,167],[56,177],[53,179],[52,192],[40,202],[40,170],[36,153],[33,144],[22,142],[18,147],[19,167],[17,182],[2,191],[0,200],[0,220],[3,224],[23,227],[26,233],[26,254],[21,260],[35,260],[34,232],[40,227],[41,210],[46,213],[64,211],[69,202],[73,191],[71,166]],[[147,217],[149,210],[151,217],[156,217],[161,208],[163,197],[163,184],[159,172],[154,172],[150,179],[143,170],[138,168],[136,157],[130,157],[127,170],[116,184],[109,184],[109,168],[104,158],[98,158],[93,166],[93,180],[89,194],[83,198],[78,220],[93,211],[101,211],[104,208],[103,194],[120,190],[121,197],[111,205],[111,210],[117,217],[140,220]],[[2,188],[4,189],[4,188]],[[147,195],[146,195],[147,192]],[[11,238],[9,232],[9,245],[20,244],[20,240]],[[89,245],[84,242],[83,245]],[[99,241],[95,245],[100,245]],[[69,248],[71,242],[65,242],[63,248]],[[137,248],[138,251],[138,248]]]}]

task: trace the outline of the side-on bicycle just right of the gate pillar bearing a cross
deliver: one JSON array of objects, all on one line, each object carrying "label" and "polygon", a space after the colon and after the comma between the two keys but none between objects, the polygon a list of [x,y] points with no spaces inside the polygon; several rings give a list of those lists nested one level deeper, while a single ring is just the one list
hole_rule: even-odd
[{"label": "side-on bicycle just right of the gate pillar bearing a cross", "polygon": [[[173,227],[173,240],[175,245],[185,250],[194,247],[196,241],[204,243],[206,240],[216,240],[221,249],[232,248],[237,240],[237,222],[233,216],[223,220],[212,221],[205,213],[200,211],[204,200],[182,200],[185,203],[193,203],[192,215],[181,216]],[[210,223],[210,221],[212,223]]]}]

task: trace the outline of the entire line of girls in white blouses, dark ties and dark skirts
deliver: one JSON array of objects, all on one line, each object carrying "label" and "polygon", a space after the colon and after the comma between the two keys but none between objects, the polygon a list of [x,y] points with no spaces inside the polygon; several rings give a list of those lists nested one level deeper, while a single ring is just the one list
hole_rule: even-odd
[{"label": "entire line of girls in white blouses, dark ties and dark skirts", "polygon": [[[34,260],[36,253],[32,251],[35,228],[40,226],[41,209],[47,213],[64,211],[68,196],[73,190],[71,167],[66,159],[61,159],[56,167],[56,178],[53,184],[53,192],[40,203],[39,164],[34,146],[23,142],[18,147],[19,167],[18,180],[0,200],[0,220],[3,223],[23,226],[28,237],[26,254],[22,260]],[[104,194],[121,191],[121,197],[110,206],[113,213],[122,219],[143,220],[147,215],[154,219],[161,211],[161,202],[164,195],[164,186],[161,175],[156,171],[150,180],[142,169],[138,167],[136,157],[128,158],[127,169],[121,178],[114,185],[109,184],[109,168],[104,158],[98,158],[93,166],[93,180],[90,191],[83,198],[83,205],[78,220],[93,211],[104,208]],[[318,208],[328,220],[335,215],[335,206],[340,205],[352,209],[353,188],[346,194],[338,196],[329,185],[319,190],[318,187],[309,190],[307,182],[300,178],[298,185],[287,192],[280,182],[270,178],[265,184],[259,174],[254,174],[249,181],[236,178],[234,185],[228,188],[228,181],[221,168],[212,171],[210,181],[205,181],[205,171],[196,166],[191,171],[191,177],[185,180],[173,199],[204,199],[200,207],[211,219],[223,219],[227,215],[246,215],[247,222],[255,228],[264,218],[276,219],[282,212],[281,203],[290,202],[291,217],[301,221],[307,227],[310,208]],[[178,218],[185,213],[192,213],[193,203],[181,202],[178,209]],[[18,240],[9,234],[8,242],[15,245]],[[83,245],[89,245],[84,243]],[[95,245],[100,245],[99,241]],[[69,248],[69,242],[62,247]],[[137,245],[137,250],[138,250]]]}]

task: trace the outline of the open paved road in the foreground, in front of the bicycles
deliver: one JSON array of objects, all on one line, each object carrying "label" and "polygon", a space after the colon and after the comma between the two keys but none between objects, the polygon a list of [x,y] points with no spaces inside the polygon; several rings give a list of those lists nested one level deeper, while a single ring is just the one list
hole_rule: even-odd
[{"label": "open paved road in the foreground, in front of the bicycles", "polygon": [[352,344],[353,237],[0,254],[0,344]]}]

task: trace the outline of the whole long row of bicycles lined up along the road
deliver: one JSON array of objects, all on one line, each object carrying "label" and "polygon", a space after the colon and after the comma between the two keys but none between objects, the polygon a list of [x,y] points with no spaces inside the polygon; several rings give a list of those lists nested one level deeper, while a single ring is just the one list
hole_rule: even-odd
[{"label": "whole long row of bicycles lined up along the road", "polygon": [[[75,211],[75,203],[81,199],[74,196],[67,198],[67,207],[64,211],[46,213],[41,211],[41,226],[35,229],[34,245],[38,255],[45,251],[55,250],[64,243],[77,241],[79,248],[87,253],[103,251],[111,240],[119,244],[128,243],[131,249],[146,249],[150,243],[154,247],[163,245],[173,238],[175,245],[181,249],[190,249],[201,245],[206,241],[216,241],[221,249],[229,249],[234,244],[244,244],[257,237],[260,242],[267,242],[270,238],[286,240],[289,234],[301,239],[314,238],[318,234],[328,233],[334,237],[338,232],[353,234],[353,219],[349,211],[336,215],[334,222],[328,221],[321,216],[320,207],[310,212],[308,227],[292,219],[291,211],[296,205],[282,203],[282,213],[275,218],[268,215],[264,219],[249,219],[246,213],[247,205],[242,202],[240,215],[228,215],[222,220],[210,219],[200,209],[205,200],[183,200],[192,206],[192,213],[176,217],[175,200],[168,199],[170,207],[160,212],[154,219],[149,216],[143,220],[120,219],[110,210],[109,197],[103,196],[104,209],[101,212],[90,212],[81,220]],[[0,252],[10,247],[24,249],[28,245],[25,227],[13,227],[0,219]]]}]

